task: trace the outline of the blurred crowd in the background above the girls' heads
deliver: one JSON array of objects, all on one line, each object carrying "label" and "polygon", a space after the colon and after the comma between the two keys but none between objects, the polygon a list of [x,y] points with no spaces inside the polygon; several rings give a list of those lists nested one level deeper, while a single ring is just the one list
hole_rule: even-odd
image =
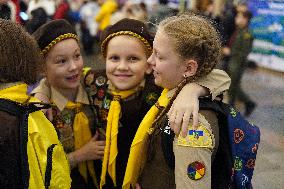
[{"label": "blurred crowd in the background above the girls' heads", "polygon": [[[192,11],[210,18],[219,31],[224,48],[223,59],[217,67],[228,72],[229,62],[232,60],[230,50],[234,46],[233,42],[236,39],[236,33],[238,33],[235,18],[240,12],[249,12],[246,1],[226,1],[221,11],[216,11],[216,2],[213,0],[196,1],[197,4],[195,7],[190,7],[188,2],[190,1],[0,0],[0,18],[11,19],[22,24],[30,34],[49,20],[66,19],[74,26],[74,29],[79,34],[84,54],[86,56],[93,56],[100,55],[100,33],[107,26],[113,25],[123,18],[132,18],[147,23],[154,34],[157,24],[164,18],[180,12]],[[250,18],[248,19],[248,25]],[[237,40],[235,43],[242,42],[238,42]],[[238,45],[235,45],[235,47],[239,48]],[[246,51],[239,50],[238,53],[240,54],[236,56],[243,56],[246,59],[251,51],[251,47]],[[243,60],[237,61],[244,62]],[[240,63],[239,65],[238,69],[241,70],[245,70],[246,67],[255,67],[254,62],[247,60],[245,60],[245,63]],[[237,71],[234,72],[236,73]],[[236,82],[238,85],[241,83],[241,75],[235,74],[238,78]],[[230,76],[232,77],[232,74]],[[234,104],[233,101],[232,104]],[[250,101],[245,103],[245,106],[247,115],[249,115],[256,104]]]}]

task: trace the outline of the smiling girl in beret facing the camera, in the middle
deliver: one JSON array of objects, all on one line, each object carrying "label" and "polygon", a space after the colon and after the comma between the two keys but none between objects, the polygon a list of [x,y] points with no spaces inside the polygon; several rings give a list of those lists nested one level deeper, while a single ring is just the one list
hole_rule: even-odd
[{"label": "smiling girl in beret facing the camera, in the middle", "polygon": [[[152,42],[153,37],[145,24],[123,19],[108,27],[101,37],[101,50],[109,80],[105,72],[89,71],[86,74],[85,84],[98,110],[97,122],[106,130],[101,187],[130,187],[132,175],[127,170],[132,170],[136,163],[135,158],[134,161],[128,158],[133,139],[142,118],[161,92],[161,88],[154,85],[150,75],[152,68],[147,64],[147,58],[152,53]],[[199,83],[213,89],[212,96],[216,95],[215,92],[219,94],[218,86],[224,84],[220,81],[217,85],[207,86],[206,80]],[[199,88],[194,87],[193,91],[189,88],[189,102],[190,98],[195,102],[195,95],[191,96],[191,93],[199,96],[203,89]]]}]

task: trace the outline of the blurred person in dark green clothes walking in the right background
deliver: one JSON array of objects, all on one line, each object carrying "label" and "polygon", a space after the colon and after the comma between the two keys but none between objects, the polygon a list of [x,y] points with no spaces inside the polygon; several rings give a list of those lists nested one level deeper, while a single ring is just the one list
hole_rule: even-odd
[{"label": "blurred person in dark green clothes walking in the right background", "polygon": [[241,88],[241,79],[247,68],[247,56],[252,50],[253,36],[248,26],[252,14],[249,11],[238,12],[235,18],[236,29],[229,40],[228,47],[223,49],[223,53],[230,56],[228,73],[232,79],[229,89],[229,103],[235,105],[239,99],[245,104],[245,116],[249,116],[256,107],[247,94]]}]

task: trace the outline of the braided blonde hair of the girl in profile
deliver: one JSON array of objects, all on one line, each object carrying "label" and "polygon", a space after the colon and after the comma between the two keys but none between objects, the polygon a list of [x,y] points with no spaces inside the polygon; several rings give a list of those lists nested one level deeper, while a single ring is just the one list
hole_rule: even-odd
[{"label": "braided blonde hair of the girl in profile", "polygon": [[221,41],[214,25],[206,18],[193,13],[169,17],[160,22],[162,30],[174,43],[182,59],[194,59],[198,63],[195,80],[209,74],[221,57]]}]

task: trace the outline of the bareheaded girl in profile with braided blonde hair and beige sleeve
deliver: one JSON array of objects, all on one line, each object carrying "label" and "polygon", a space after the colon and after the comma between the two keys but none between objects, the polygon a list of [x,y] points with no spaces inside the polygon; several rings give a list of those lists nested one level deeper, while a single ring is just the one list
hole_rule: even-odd
[{"label": "bareheaded girl in profile with braided blonde hair and beige sleeve", "polygon": [[190,124],[186,138],[172,135],[166,113],[184,85],[209,74],[219,58],[220,40],[206,19],[180,15],[159,24],[148,62],[153,66],[155,84],[165,88],[159,101],[164,100],[166,107],[148,131],[148,158],[138,179],[142,189],[211,188],[212,162],[219,144],[216,113],[201,110],[198,129]]}]

